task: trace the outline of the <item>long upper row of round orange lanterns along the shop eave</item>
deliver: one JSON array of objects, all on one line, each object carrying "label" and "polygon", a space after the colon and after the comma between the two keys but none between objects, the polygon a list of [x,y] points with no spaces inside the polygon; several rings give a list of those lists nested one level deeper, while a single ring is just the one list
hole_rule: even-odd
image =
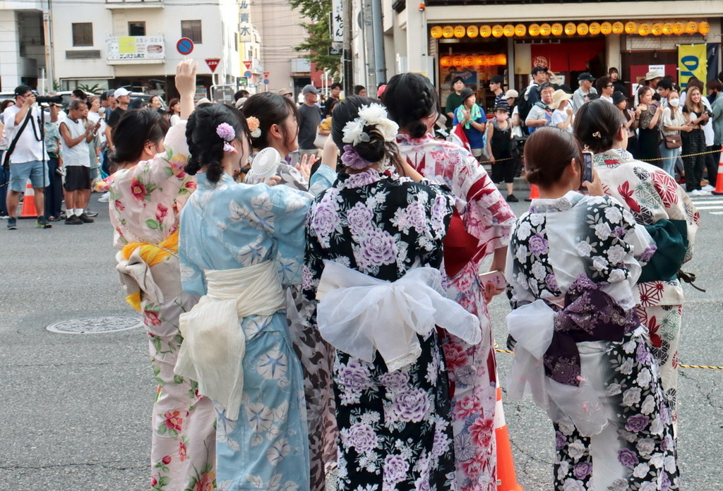
[{"label": "long upper row of round orange lanterns along the shop eave", "polygon": [[649,22],[581,22],[576,24],[575,22],[568,22],[565,25],[555,22],[555,24],[518,24],[518,25],[482,25],[477,27],[476,25],[470,25],[464,27],[463,25],[445,25],[444,27],[435,25],[430,30],[432,38],[476,38],[478,35],[482,38],[512,38],[513,36],[523,37],[524,35],[536,36],[560,36],[563,33],[565,35],[598,35],[598,34],[638,34],[646,36],[649,34],[659,35],[680,35],[680,34],[708,34],[711,30],[711,26],[708,22],[655,22],[650,24]]}]

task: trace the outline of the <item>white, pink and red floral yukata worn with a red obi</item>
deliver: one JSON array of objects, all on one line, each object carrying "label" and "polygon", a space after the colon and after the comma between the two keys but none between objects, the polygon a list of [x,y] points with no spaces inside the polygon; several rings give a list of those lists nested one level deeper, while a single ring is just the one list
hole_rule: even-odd
[{"label": "white, pink and red floral yukata worn with a red obi", "polygon": [[[407,162],[419,173],[441,180],[450,187],[455,196],[455,214],[461,218],[463,225],[461,233],[466,233],[466,243],[471,244],[467,246],[471,258],[466,264],[453,267],[445,253],[446,287],[450,298],[479,316],[483,329],[482,342],[471,346],[453,334],[445,333],[442,343],[452,392],[458,487],[462,491],[495,491],[497,375],[489,313],[478,274],[488,254],[508,245],[515,214],[482,165],[466,149],[435,140],[429,134],[420,139],[398,135],[397,143]],[[452,230],[453,225],[450,226],[448,239]],[[459,233],[457,236],[460,236]],[[445,252],[449,247],[447,240]],[[453,269],[458,271],[453,272]]]}]

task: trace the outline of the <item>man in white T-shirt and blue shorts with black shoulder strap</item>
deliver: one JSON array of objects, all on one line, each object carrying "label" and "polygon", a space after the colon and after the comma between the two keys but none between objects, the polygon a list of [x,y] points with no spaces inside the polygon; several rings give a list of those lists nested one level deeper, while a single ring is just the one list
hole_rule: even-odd
[{"label": "man in white T-shirt and blue shorts with black shoulder strap", "polygon": [[[51,116],[57,115],[58,107],[51,105]],[[7,193],[7,229],[17,229],[17,204],[20,193],[25,191],[25,183],[30,179],[33,186],[33,200],[38,210],[38,228],[51,228],[43,210],[45,209],[44,191],[48,186],[48,155],[43,146],[43,127],[40,123],[40,109],[35,105],[35,93],[27,85],[15,87],[15,104],[4,113],[5,131],[8,149],[3,155],[3,165],[9,165],[10,183]]]}]

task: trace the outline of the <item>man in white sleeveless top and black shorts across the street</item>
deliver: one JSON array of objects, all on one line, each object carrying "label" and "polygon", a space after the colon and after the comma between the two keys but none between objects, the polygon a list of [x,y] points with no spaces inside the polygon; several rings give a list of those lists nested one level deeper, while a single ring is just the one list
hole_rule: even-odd
[{"label": "man in white sleeveless top and black shorts across the street", "polygon": [[95,220],[85,213],[90,199],[90,161],[87,146],[98,133],[100,121],[85,124],[88,107],[85,101],[70,101],[68,117],[60,123],[65,176],[65,225],[82,225]]}]

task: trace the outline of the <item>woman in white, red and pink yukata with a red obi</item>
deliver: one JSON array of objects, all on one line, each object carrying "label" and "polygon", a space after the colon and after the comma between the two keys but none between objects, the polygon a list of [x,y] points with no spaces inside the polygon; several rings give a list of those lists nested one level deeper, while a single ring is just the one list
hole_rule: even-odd
[{"label": "woman in white, red and pink yukata with a red obi", "polygon": [[470,152],[430,134],[437,121],[437,92],[427,77],[395,75],[384,97],[390,116],[401,126],[397,143],[408,164],[445,183],[455,196],[445,238],[445,287],[450,298],[479,317],[484,336],[484,342],[471,346],[451,334],[442,335],[453,386],[457,484],[463,491],[495,491],[497,373],[487,302],[499,291],[482,284],[478,275],[490,254],[489,271],[505,271],[515,215]]}]

